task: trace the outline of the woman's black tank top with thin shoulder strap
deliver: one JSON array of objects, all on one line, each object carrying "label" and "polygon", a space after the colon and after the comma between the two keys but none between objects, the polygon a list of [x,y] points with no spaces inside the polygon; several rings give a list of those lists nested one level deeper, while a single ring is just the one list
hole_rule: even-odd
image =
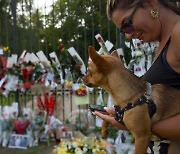
[{"label": "woman's black tank top with thin shoulder strap", "polygon": [[174,71],[166,59],[170,41],[171,38],[169,38],[162,52],[142,79],[151,84],[161,83],[180,90],[180,73]]}]

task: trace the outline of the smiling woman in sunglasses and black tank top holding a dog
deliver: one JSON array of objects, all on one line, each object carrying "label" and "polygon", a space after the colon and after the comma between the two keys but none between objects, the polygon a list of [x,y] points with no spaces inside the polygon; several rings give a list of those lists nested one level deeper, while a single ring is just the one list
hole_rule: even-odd
[{"label": "smiling woman in sunglasses and black tank top holding a dog", "polygon": [[[180,89],[180,11],[172,1],[107,0],[107,15],[128,39],[159,41],[155,61],[143,79],[151,84],[162,83]],[[113,108],[106,110],[114,114]],[[94,114],[117,129],[127,130],[114,117],[97,111]],[[180,140],[180,115],[154,124],[152,131],[161,138]],[[148,153],[153,153],[153,145],[151,142]],[[166,140],[159,146],[159,153],[166,154]]]}]

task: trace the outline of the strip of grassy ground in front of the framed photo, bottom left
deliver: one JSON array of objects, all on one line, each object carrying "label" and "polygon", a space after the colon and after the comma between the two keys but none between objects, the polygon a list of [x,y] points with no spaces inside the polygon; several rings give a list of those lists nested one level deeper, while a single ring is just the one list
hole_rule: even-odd
[{"label": "strip of grassy ground in front of the framed photo, bottom left", "polygon": [[3,148],[0,146],[0,153],[4,154],[51,154],[54,148],[55,142],[51,142],[50,146],[47,146],[46,142],[41,142],[37,147],[31,147],[27,149],[12,149]]}]

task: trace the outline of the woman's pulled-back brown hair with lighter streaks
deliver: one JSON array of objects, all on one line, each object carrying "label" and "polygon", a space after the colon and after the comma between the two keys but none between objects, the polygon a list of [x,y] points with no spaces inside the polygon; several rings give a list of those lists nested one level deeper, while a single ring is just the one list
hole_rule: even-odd
[{"label": "woman's pulled-back brown hair with lighter streaks", "polygon": [[[107,16],[112,18],[112,14],[116,9],[129,9],[137,0],[107,0]],[[158,0],[162,6],[173,10],[180,15],[180,4],[178,0]]]}]

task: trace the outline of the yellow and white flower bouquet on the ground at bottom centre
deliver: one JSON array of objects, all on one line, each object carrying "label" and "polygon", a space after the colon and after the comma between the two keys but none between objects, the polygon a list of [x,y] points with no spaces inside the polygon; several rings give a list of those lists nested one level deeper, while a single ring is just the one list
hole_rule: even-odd
[{"label": "yellow and white flower bouquet on the ground at bottom centre", "polygon": [[105,154],[107,142],[96,137],[62,140],[52,154]]}]

